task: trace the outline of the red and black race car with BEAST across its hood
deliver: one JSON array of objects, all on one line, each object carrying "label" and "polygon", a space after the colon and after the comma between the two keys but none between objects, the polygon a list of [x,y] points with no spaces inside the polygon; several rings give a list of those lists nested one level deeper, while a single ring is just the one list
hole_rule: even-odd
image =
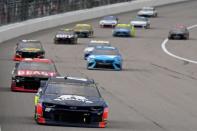
[{"label": "red and black race car with BEAST across its hood", "polygon": [[11,90],[37,92],[41,80],[47,80],[49,77],[58,75],[52,60],[25,58],[15,64],[12,71]]}]

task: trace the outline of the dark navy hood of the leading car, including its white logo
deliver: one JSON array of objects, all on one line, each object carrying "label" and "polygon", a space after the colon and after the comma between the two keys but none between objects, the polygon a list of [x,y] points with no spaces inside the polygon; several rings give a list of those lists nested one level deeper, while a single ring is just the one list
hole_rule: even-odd
[{"label": "dark navy hood of the leading car, including its white logo", "polygon": [[101,97],[79,95],[45,95],[42,99],[42,102],[69,106],[102,106],[105,104]]}]

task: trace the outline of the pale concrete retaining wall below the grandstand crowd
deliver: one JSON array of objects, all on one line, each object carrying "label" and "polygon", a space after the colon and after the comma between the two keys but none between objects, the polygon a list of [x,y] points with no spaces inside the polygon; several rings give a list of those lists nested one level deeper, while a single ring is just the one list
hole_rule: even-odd
[{"label": "pale concrete retaining wall below the grandstand crowd", "polygon": [[21,35],[29,34],[39,30],[69,24],[77,21],[93,19],[110,14],[128,12],[140,9],[143,6],[161,6],[186,0],[135,0],[126,3],[107,5],[92,9],[73,11],[43,18],[27,20],[0,27],[0,43],[16,38]]}]

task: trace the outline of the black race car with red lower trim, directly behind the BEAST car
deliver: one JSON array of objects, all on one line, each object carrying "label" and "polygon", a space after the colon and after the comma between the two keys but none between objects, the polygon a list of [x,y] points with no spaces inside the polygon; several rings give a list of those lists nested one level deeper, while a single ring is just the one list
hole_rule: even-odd
[{"label": "black race car with red lower trim, directly behind the BEAST car", "polygon": [[16,44],[13,60],[20,61],[23,58],[44,58],[45,51],[38,40],[21,40]]}]

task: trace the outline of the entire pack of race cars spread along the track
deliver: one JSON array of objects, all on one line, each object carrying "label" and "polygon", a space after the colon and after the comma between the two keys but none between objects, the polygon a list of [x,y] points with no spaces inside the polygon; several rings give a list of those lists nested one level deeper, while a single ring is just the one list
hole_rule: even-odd
[{"label": "entire pack of race cars spread along the track", "polygon": [[[119,23],[116,16],[105,16],[99,21],[101,28],[113,29],[114,37],[135,37],[135,28],[150,28],[149,17],[157,17],[154,7],[144,7],[129,24]],[[71,29],[59,30],[55,44],[77,44],[78,38],[94,36],[89,24],[77,24]],[[169,32],[169,39],[189,39],[189,31],[177,25]],[[106,40],[91,40],[84,49],[86,68],[123,68],[123,58],[118,48]],[[60,76],[55,63],[45,58],[45,50],[38,40],[21,40],[17,43],[13,60],[11,90],[37,92],[34,98],[34,118],[38,124],[86,126],[104,128],[109,108],[92,79]]]}]

